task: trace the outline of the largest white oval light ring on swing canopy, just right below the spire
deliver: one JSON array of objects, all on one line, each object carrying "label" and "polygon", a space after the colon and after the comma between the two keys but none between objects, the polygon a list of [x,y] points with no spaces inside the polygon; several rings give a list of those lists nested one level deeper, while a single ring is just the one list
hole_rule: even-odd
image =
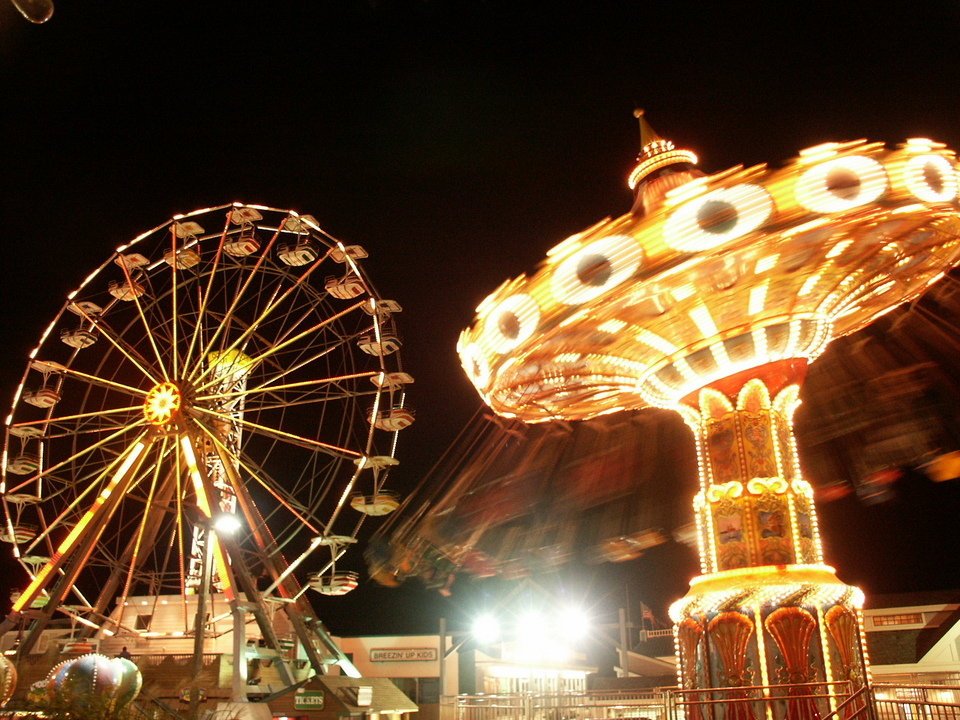
[{"label": "largest white oval light ring on swing canopy, just right below the spire", "polygon": [[759,185],[720,188],[677,208],[664,223],[663,240],[681,252],[711,250],[756,230],[772,214],[773,199]]}]

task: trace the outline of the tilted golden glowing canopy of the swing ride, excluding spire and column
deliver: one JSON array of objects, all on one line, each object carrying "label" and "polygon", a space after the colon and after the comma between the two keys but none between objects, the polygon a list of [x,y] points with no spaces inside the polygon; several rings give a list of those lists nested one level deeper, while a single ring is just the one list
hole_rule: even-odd
[{"label": "tilted golden glowing canopy of the swing ride, excluding spire and column", "polygon": [[[953,153],[929,140],[696,178],[548,251],[481,303],[458,351],[485,401],[527,422],[673,407],[920,295],[960,254],[957,195]],[[732,357],[731,338],[751,348]]]}]

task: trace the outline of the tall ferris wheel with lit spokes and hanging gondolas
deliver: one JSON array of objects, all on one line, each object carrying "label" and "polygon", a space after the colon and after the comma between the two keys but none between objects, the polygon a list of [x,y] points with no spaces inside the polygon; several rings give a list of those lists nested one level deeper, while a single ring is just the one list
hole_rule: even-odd
[{"label": "tall ferris wheel with lit spokes and hanging gondolas", "polygon": [[28,584],[0,632],[27,628],[19,652],[57,612],[92,634],[115,600],[197,593],[207,565],[301,634],[306,587],[352,587],[336,560],[396,507],[384,484],[414,419],[401,308],[364,257],[309,215],[233,204],[143,233],[70,293],[6,420],[0,540]]}]

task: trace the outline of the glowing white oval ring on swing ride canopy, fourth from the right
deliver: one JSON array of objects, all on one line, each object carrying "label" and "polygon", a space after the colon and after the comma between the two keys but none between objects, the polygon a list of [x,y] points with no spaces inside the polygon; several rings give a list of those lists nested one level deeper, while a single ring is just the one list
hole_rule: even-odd
[{"label": "glowing white oval ring on swing ride canopy, fourth from the right", "polygon": [[598,238],[557,265],[553,295],[564,305],[589,302],[632,277],[643,261],[643,248],[629,235]]}]

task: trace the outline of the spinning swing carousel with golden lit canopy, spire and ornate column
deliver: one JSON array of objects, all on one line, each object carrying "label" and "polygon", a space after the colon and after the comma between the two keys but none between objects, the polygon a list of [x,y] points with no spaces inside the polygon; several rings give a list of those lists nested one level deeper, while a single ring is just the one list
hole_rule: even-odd
[{"label": "spinning swing carousel with golden lit canopy, spire and ornate column", "polygon": [[[788,715],[816,717],[837,699],[812,699],[800,684],[853,692],[869,668],[863,593],[824,562],[797,457],[800,385],[832,340],[918,298],[960,261],[955,158],[925,139],[855,141],[809,148],[779,169],[706,175],[638,117],[631,212],[501,285],[458,351],[502,418],[563,426],[643,408],[682,417],[696,445],[701,574],[670,610],[680,683],[694,693],[790,683]],[[922,386],[909,373],[887,380]],[[466,567],[480,534],[438,545]],[[405,570],[385,562],[382,572],[391,567]],[[764,712],[732,707],[743,718]]]}]

